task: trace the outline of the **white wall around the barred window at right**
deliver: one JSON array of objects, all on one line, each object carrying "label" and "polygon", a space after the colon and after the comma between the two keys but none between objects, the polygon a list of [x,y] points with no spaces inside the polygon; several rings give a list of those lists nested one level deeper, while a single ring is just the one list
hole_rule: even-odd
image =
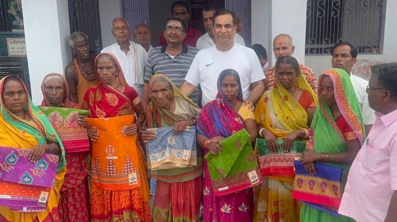
[{"label": "white wall around the barred window at right", "polygon": [[[383,41],[383,54],[359,54],[357,58],[373,61],[397,61],[397,0],[389,0],[386,4],[385,35]],[[331,56],[305,56],[306,65],[310,66],[317,77],[321,72],[332,68]]]}]

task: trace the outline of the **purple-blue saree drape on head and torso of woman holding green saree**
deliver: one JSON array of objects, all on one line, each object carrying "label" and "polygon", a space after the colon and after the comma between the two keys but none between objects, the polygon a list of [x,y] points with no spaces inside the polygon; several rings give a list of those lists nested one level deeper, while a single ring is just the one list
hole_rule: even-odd
[{"label": "purple-blue saree drape on head and torso of woman holding green saree", "polygon": [[[229,137],[244,128],[243,117],[234,110],[229,100],[222,93],[221,83],[222,77],[224,77],[222,73],[226,70],[228,69],[223,70],[218,77],[218,94],[216,95],[216,99],[207,103],[202,108],[197,122],[197,132],[205,135],[207,138],[215,136]],[[240,78],[236,80],[239,85],[237,99],[243,101]]]}]

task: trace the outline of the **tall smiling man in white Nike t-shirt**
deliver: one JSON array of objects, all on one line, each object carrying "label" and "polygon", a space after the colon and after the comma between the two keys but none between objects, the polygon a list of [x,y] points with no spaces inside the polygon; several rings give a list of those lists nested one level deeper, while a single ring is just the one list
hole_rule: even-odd
[{"label": "tall smiling man in white Nike t-shirt", "polygon": [[[265,76],[254,50],[236,44],[234,35],[237,18],[234,12],[221,9],[213,15],[216,45],[199,51],[186,75],[181,91],[189,96],[200,85],[201,103],[215,99],[218,93],[216,82],[224,69],[234,69],[240,75],[243,98],[252,106],[265,92]],[[250,94],[250,89],[252,90]]]}]

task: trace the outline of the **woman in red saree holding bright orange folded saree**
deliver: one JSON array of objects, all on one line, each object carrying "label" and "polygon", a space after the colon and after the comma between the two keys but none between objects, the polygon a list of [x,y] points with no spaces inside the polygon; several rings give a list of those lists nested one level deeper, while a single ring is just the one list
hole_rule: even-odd
[{"label": "woman in red saree holding bright orange folded saree", "polygon": [[131,117],[131,122],[122,123],[124,126],[120,132],[119,129],[113,132],[113,138],[103,134],[106,138],[101,139],[98,128],[88,129],[93,141],[91,220],[149,222],[150,193],[138,132],[145,120],[143,106],[136,91],[127,84],[113,54],[99,54],[95,64],[99,84],[87,90],[83,102],[92,122],[98,123],[97,127],[110,129],[134,113],[137,118],[134,121]]}]

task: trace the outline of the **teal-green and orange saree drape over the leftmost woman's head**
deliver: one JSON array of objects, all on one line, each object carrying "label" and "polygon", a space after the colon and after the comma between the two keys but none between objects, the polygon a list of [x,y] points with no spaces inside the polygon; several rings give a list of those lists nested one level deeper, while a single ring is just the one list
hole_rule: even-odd
[{"label": "teal-green and orange saree drape over the leftmost woman's head", "polygon": [[23,89],[25,90],[26,97],[27,97],[27,104],[25,107],[25,110],[29,112],[30,116],[32,117],[31,121],[27,121],[23,118],[20,118],[13,114],[11,111],[7,109],[7,107],[4,104],[3,101],[3,90],[4,90],[4,82],[7,78],[11,76],[6,76],[0,80],[0,112],[2,117],[12,126],[17,128],[21,132],[26,132],[36,138],[39,144],[47,144],[48,141],[52,141],[55,143],[58,143],[61,152],[59,155],[59,163],[57,167],[57,172],[61,171],[65,164],[65,150],[64,146],[61,142],[61,139],[59,138],[57,132],[51,125],[51,123],[48,121],[47,117],[44,115],[42,111],[40,111],[32,102],[32,100],[29,97],[29,93],[26,89],[25,84],[22,82],[22,80],[19,79],[19,81],[23,85]]}]

